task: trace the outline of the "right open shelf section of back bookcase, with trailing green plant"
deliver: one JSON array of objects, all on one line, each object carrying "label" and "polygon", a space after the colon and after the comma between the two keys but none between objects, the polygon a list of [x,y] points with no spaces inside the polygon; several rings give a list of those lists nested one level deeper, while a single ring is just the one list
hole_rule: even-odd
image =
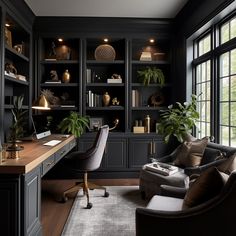
[{"label": "right open shelf section of back bookcase, with trailing green plant", "polygon": [[[131,130],[137,121],[144,123],[145,117],[149,115],[150,132],[156,132],[160,110],[165,110],[172,99],[170,42],[166,39],[155,41],[133,39],[131,42]],[[150,73],[155,71],[160,71],[164,76],[155,74],[152,77]],[[144,72],[146,75],[142,77]],[[158,76],[157,81],[155,76]]]}]

